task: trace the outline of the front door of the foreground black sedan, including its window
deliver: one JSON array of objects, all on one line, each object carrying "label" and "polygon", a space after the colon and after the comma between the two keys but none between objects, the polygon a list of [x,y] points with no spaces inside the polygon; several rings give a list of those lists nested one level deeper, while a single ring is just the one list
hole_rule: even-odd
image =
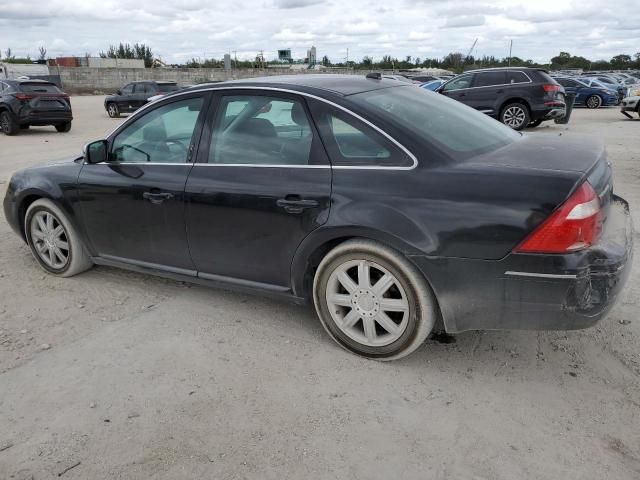
[{"label": "front door of the foreground black sedan, including its window", "polygon": [[109,138],[108,162],[82,167],[83,223],[99,256],[193,272],[184,185],[207,98],[194,94],[163,102]]}]

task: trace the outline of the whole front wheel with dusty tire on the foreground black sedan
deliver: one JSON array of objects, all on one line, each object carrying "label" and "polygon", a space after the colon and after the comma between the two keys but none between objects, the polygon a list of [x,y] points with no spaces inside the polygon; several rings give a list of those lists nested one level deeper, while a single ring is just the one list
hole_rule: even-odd
[{"label": "whole front wheel with dusty tire on the foreground black sedan", "polygon": [[[27,209],[24,225],[31,253],[48,273],[72,277],[93,266],[78,233],[51,200],[41,198],[33,202]],[[49,248],[52,245],[59,254]]]}]

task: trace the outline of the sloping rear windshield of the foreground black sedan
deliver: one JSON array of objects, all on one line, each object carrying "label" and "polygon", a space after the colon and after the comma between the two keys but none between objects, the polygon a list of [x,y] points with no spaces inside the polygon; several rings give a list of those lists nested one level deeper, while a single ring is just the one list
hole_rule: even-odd
[{"label": "sloping rear windshield of the foreground black sedan", "polygon": [[413,132],[453,160],[490,152],[520,138],[518,132],[484,113],[424,88],[385,88],[350,99]]}]

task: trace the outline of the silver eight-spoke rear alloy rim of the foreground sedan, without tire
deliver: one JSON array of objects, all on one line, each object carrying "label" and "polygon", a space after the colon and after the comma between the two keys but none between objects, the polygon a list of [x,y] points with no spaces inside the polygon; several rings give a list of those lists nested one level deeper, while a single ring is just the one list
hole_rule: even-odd
[{"label": "silver eight-spoke rear alloy rim of the foreground sedan, without tire", "polygon": [[339,265],[329,276],[326,302],[336,326],[370,347],[395,342],[409,321],[409,301],[400,281],[368,260]]}]

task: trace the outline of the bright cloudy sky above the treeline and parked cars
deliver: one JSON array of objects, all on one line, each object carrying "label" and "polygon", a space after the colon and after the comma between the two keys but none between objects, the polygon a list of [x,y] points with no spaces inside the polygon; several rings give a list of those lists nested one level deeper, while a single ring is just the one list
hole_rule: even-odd
[{"label": "bright cloudy sky above the treeline and parked cars", "polygon": [[[97,56],[141,42],[167,63],[191,58],[441,58],[513,55],[546,63],[560,51],[591,60],[640,52],[640,0],[3,0],[0,50]],[[348,51],[348,53],[347,53]]]}]

